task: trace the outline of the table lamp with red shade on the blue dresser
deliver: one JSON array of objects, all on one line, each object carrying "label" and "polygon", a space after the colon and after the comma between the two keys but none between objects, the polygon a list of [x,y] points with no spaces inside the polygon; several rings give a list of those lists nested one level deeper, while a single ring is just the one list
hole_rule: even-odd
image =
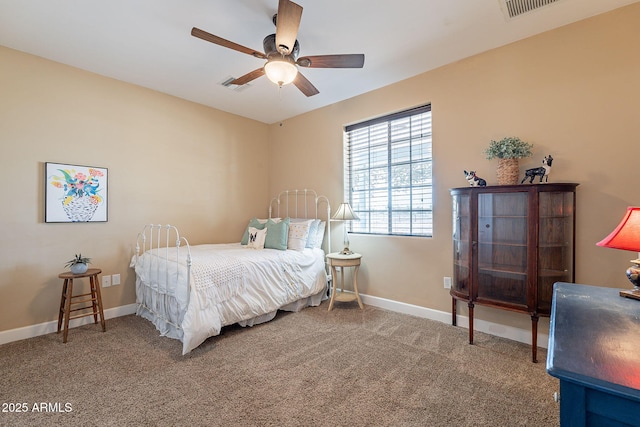
[{"label": "table lamp with red shade on the blue dresser", "polygon": [[[616,229],[596,245],[640,252],[640,207],[628,207]],[[633,265],[627,269],[627,278],[634,288],[620,291],[620,296],[640,300],[640,259],[631,260],[631,263]]]}]

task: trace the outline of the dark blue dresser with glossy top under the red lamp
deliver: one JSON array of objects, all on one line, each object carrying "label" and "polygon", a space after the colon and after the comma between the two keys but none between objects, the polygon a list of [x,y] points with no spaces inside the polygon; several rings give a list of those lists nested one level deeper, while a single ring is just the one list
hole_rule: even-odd
[{"label": "dark blue dresser with glossy top under the red lamp", "polygon": [[640,301],[618,292],[554,285],[547,372],[563,427],[640,426]]}]

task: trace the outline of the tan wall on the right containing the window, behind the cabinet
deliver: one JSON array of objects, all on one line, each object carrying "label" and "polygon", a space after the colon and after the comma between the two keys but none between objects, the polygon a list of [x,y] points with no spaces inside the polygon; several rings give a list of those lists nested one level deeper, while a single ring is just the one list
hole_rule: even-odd
[{"label": "tan wall on the right containing the window, behind the cabinet", "polygon": [[[306,185],[337,206],[343,197],[343,126],[431,103],[434,237],[352,235],[351,248],[364,254],[362,292],[450,311],[443,288],[443,277],[453,271],[449,188],[466,185],[463,169],[495,184],[496,162],[482,150],[491,139],[511,135],[534,144],[534,156],[521,170],[539,166],[550,153],[551,181],[580,183],[577,282],[628,287],[624,269],[635,254],[595,243],[628,205],[640,204],[633,155],[640,138],[638,22],[635,4],[274,124],[270,188]],[[342,233],[334,230],[338,250]],[[488,308],[476,309],[476,315],[529,327],[528,316]]]}]

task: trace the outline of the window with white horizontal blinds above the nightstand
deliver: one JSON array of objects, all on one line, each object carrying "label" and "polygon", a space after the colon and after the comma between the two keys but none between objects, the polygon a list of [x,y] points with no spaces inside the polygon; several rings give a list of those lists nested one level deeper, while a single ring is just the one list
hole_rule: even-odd
[{"label": "window with white horizontal blinds above the nightstand", "polygon": [[431,105],[347,126],[344,159],[352,232],[433,235]]}]

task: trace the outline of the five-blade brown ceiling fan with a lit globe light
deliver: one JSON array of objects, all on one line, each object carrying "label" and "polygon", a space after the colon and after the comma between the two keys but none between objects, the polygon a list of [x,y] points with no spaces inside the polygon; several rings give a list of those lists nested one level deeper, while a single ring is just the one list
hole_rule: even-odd
[{"label": "five-blade brown ceiling fan with a lit globe light", "polygon": [[316,55],[298,58],[300,44],[296,38],[302,18],[302,6],[289,0],[279,1],[278,12],[273,16],[276,32],[264,38],[262,42],[264,53],[214,36],[196,27],[191,30],[191,35],[194,37],[267,60],[263,67],[238,77],[230,84],[244,85],[266,74],[269,80],[280,87],[293,83],[306,96],[313,96],[319,93],[318,89],[298,72],[297,66],[305,68],[362,68],[364,66],[363,54]]}]

